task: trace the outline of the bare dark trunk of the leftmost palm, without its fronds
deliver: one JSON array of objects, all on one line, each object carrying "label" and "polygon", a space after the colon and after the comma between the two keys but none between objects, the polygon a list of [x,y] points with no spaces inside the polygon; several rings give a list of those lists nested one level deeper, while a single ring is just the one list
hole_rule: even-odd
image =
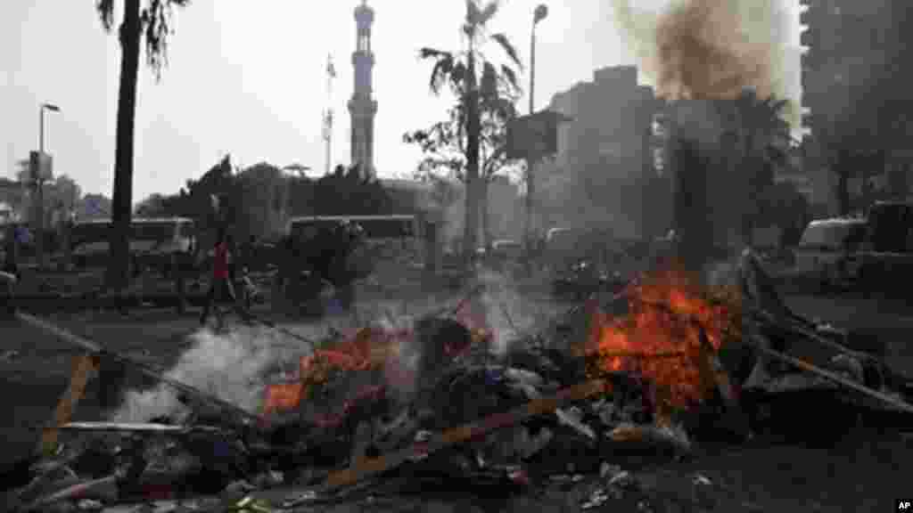
[{"label": "bare dark trunk of the leftmost palm, without its fronds", "polygon": [[109,284],[124,288],[130,268],[130,222],[133,187],[133,122],[136,116],[136,83],[140,67],[140,0],[124,2],[121,24],[121,89],[117,106],[117,148],[114,154]]}]

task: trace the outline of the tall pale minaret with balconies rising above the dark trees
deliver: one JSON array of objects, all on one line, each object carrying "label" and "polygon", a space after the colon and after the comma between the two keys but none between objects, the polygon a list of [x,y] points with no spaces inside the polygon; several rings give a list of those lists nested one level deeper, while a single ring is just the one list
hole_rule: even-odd
[{"label": "tall pale minaret with balconies rising above the dark trees", "polygon": [[355,7],[355,23],[358,26],[355,51],[352,52],[355,87],[349,100],[349,113],[352,115],[352,165],[360,165],[365,176],[374,176],[374,114],[377,113],[377,101],[373,99],[372,86],[373,22],[374,10],[367,5],[367,0],[362,0],[362,4]]}]

